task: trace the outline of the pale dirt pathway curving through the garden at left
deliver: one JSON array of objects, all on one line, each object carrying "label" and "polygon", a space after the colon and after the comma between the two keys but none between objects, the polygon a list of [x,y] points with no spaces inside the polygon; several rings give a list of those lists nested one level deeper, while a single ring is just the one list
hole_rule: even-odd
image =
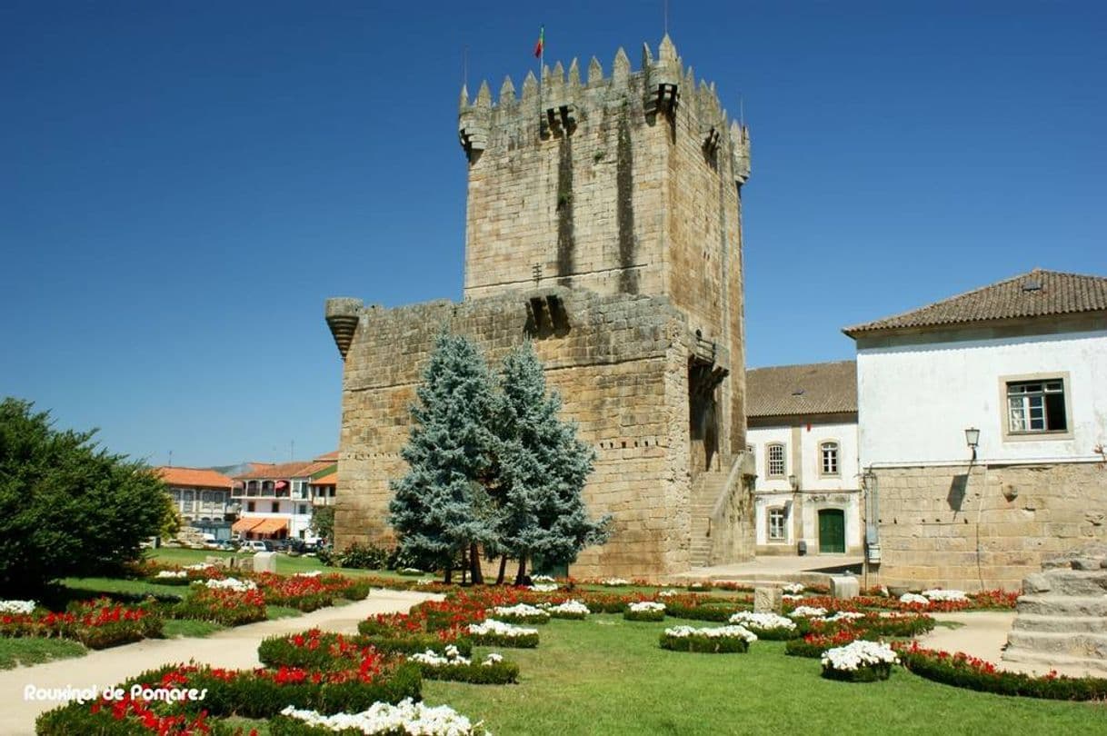
[{"label": "pale dirt pathway curving through the garden at left", "polygon": [[319,628],[324,631],[355,633],[358,622],[374,613],[406,612],[426,600],[441,595],[414,591],[376,590],[369,598],[349,605],[320,609],[292,619],[261,621],[236,626],[204,639],[147,639],[134,644],[90,652],[76,660],[59,660],[31,667],[0,671],[0,734],[22,736],[34,733],[34,719],[63,701],[27,697],[28,687],[89,688],[102,691],[128,677],[163,664],[197,662],[220,667],[260,666],[258,644],[275,634]]}]

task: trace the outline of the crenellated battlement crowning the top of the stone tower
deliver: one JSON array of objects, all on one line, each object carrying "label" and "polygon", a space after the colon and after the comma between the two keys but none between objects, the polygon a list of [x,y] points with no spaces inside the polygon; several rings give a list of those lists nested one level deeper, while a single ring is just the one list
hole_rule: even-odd
[{"label": "crenellated battlement crowning the top of the stone tower", "polygon": [[541,83],[527,72],[521,93],[517,94],[510,76],[504,79],[499,96],[493,99],[487,81],[475,97],[462,87],[458,105],[458,138],[473,163],[490,145],[519,146],[527,141],[572,135],[589,115],[633,101],[632,112],[644,122],[658,115],[672,117],[683,108],[692,117],[691,128],[700,135],[704,155],[715,160],[724,151],[731,158],[735,182],[749,178],[749,131],[732,121],[718,100],[714,82],[695,79],[692,66],[684,66],[676,46],[666,34],[654,55],[642,44],[642,64],[635,72],[630,58],[620,48],[604,76],[603,66],[592,56],[587,79],[581,80],[577,59],[568,72],[561,62],[541,70]]}]

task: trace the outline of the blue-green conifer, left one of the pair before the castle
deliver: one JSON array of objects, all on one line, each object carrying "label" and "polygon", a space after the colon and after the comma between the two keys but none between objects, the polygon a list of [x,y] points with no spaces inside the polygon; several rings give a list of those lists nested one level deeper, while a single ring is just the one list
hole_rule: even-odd
[{"label": "blue-green conifer, left one of the pair before the castle", "polygon": [[443,332],[416,390],[412,429],[401,456],[407,474],[392,483],[390,522],[403,550],[446,571],[493,538],[482,484],[489,465],[493,380],[476,345]]}]

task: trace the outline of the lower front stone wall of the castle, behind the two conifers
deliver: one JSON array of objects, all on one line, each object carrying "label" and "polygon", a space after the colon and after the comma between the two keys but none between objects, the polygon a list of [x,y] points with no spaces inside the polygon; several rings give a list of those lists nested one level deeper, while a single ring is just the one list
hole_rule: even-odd
[{"label": "lower front stone wall of the castle, behind the two conifers", "polygon": [[597,450],[584,490],[594,515],[612,514],[611,541],[586,550],[575,576],[668,574],[689,564],[687,326],[663,298],[561,288],[362,309],[342,391],[337,546],[386,542],[389,480],[406,466],[415,387],[442,328],[474,338],[495,365],[523,341],[530,297],[557,296],[569,330],[535,342],[562,415]]}]

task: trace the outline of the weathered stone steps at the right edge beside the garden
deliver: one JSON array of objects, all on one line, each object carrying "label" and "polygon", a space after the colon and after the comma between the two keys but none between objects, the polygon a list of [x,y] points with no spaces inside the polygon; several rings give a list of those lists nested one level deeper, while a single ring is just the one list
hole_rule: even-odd
[{"label": "weathered stone steps at the right edge beside the garden", "polygon": [[1107,674],[1107,558],[1067,564],[1023,581],[1003,659]]}]

